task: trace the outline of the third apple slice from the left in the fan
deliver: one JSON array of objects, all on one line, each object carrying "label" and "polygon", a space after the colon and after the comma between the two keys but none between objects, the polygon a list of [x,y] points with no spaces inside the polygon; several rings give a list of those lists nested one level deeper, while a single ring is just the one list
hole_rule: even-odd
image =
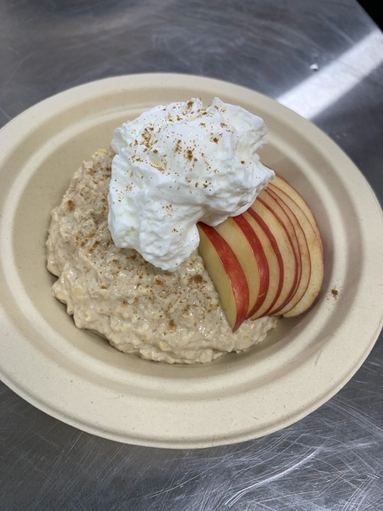
[{"label": "third apple slice from the left in the fan", "polygon": [[248,221],[248,224],[250,224],[252,230],[257,235],[269,266],[270,279],[267,295],[265,300],[260,303],[259,307],[255,309],[250,316],[250,319],[258,319],[262,316],[265,316],[266,313],[270,311],[270,309],[274,306],[275,302],[277,302],[279,294],[282,290],[283,262],[280,254],[279,256],[277,255],[277,249],[275,249],[275,247],[277,247],[277,242],[273,240],[270,229],[268,229],[265,222],[259,218],[259,215],[257,215],[255,211],[252,211],[250,208],[241,216],[243,216],[243,218]]}]

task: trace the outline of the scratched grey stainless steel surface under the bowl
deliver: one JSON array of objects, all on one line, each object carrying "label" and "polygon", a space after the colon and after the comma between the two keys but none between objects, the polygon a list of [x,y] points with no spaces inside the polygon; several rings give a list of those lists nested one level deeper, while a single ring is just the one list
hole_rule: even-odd
[{"label": "scratched grey stainless steel surface under the bowl", "polygon": [[[208,75],[312,119],[383,199],[383,36],[354,0],[3,0],[0,40],[0,126],[101,77]],[[350,383],[292,427],[176,451],[79,432],[1,385],[0,509],[382,510],[382,391],[381,335]]]}]

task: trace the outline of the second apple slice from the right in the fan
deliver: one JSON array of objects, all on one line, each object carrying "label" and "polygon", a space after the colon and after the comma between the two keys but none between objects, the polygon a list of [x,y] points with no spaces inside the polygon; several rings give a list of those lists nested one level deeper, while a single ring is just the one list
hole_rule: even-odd
[{"label": "second apple slice from the right in the fan", "polygon": [[[278,195],[275,194],[269,187],[265,189],[265,194],[272,197],[272,199],[274,199],[274,202],[276,202],[279,205],[279,208],[281,208],[284,211],[284,213],[289,217],[289,220],[291,221],[291,224],[294,227],[295,233],[295,236],[292,236],[292,241],[294,242],[294,245],[297,243],[300,259],[301,273],[299,275],[299,279],[297,282],[298,285],[296,287],[294,295],[292,295],[292,298],[284,305],[284,307],[282,307],[282,309],[279,309],[278,311],[278,315],[283,315],[285,312],[288,312],[290,309],[292,309],[299,302],[299,300],[301,300],[301,297],[303,297],[304,293],[306,292],[307,286],[309,285],[311,274],[310,254],[306,242],[306,236],[304,236],[304,231],[301,228],[301,224],[299,224],[299,221],[292,212],[292,210],[289,209],[289,207],[287,207],[287,204],[283,202],[283,200],[280,197],[278,197]],[[279,211],[279,209],[277,211]]]}]

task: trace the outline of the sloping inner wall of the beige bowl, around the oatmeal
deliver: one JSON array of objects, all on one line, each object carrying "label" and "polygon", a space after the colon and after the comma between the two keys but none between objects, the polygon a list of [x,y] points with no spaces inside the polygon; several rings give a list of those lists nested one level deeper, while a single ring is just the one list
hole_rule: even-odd
[{"label": "sloping inner wall of the beige bowl, around the oatmeal", "polygon": [[[134,113],[135,114],[135,113]],[[50,287],[55,277],[45,267],[45,241],[50,223],[50,211],[60,203],[62,195],[69,186],[70,179],[82,160],[99,148],[108,148],[113,136],[113,129],[126,120],[126,116],[113,116],[112,119],[99,120],[96,124],[83,126],[81,133],[62,138],[52,144],[51,150],[45,151],[35,171],[18,200],[14,218],[14,254],[18,273],[26,295],[57,338],[74,346],[80,357],[94,358],[108,364],[111,370],[116,368],[136,373],[156,375],[167,378],[204,378],[206,375],[226,374],[228,370],[240,370],[244,364],[262,363],[278,350],[281,344],[286,345],[287,339],[300,329],[300,325],[309,322],[309,314],[296,319],[283,319],[277,329],[272,331],[267,340],[246,353],[223,356],[207,366],[197,365],[166,365],[142,361],[137,356],[116,351],[109,343],[91,331],[79,330],[74,326],[71,317],[65,312],[65,305],[53,299]],[[283,169],[287,178],[299,179],[301,187],[310,190],[310,182],[305,179],[299,165],[289,159],[272,142],[262,150],[262,160],[273,168]],[[321,229],[326,231],[328,218],[321,213]],[[326,237],[326,242],[331,240]],[[28,247],[28,253],[26,253]],[[326,254],[327,264],[331,265],[331,255]],[[52,341],[53,342],[53,341]]]}]

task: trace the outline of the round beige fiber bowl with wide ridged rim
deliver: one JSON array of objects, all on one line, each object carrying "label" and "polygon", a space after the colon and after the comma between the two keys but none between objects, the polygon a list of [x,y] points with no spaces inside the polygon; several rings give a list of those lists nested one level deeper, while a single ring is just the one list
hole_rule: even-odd
[{"label": "round beige fiber bowl with wide ridged rim", "polygon": [[[206,366],[174,367],[119,353],[76,329],[50,294],[45,239],[50,210],[74,170],[108,147],[115,126],[193,95],[206,103],[217,95],[265,119],[270,134],[262,161],[280,170],[313,209],[326,275],[316,306],[279,322],[266,344]],[[131,444],[229,444],[309,414],[370,353],[382,328],[382,211],[340,148],[276,101],[203,77],[115,77],[33,106],[0,131],[0,145],[0,372],[40,410]]]}]

